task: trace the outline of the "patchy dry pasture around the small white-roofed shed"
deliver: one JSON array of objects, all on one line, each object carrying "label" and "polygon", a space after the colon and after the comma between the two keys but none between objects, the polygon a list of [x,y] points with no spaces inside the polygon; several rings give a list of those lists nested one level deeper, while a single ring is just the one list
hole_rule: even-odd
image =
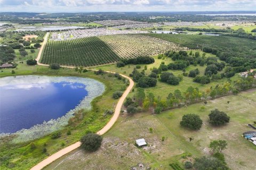
[{"label": "patchy dry pasture around the small white-roofed shed", "polygon": [[[184,168],[183,163],[186,160],[193,162],[195,157],[210,154],[210,141],[224,139],[228,142],[228,149],[223,151],[228,166],[234,170],[253,170],[256,148],[241,136],[243,132],[251,130],[245,124],[256,119],[256,103],[252,101],[252,95],[256,95],[256,89],[244,91],[237,96],[209,100],[206,105],[198,103],[159,115],[122,115],[113,129],[103,135],[102,146],[98,151],[89,153],[76,149],[44,169],[171,169],[171,163]],[[227,101],[230,103],[227,104]],[[204,111],[200,109],[201,106],[205,106]],[[207,122],[210,111],[215,108],[230,116],[229,124],[214,128]],[[201,130],[190,131],[181,128],[179,120],[187,113],[201,116]],[[149,128],[153,129],[152,133]],[[162,137],[165,137],[164,141],[161,140]],[[189,137],[193,138],[191,142]],[[134,141],[139,138],[145,138],[148,146],[135,147]],[[142,163],[144,168],[139,168],[139,163]]]}]

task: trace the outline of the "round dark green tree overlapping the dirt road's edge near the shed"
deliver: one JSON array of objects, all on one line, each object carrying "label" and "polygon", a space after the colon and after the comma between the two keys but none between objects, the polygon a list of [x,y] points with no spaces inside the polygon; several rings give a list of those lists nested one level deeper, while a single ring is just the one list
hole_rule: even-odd
[{"label": "round dark green tree overlapping the dirt road's edge near the shed", "polygon": [[81,138],[81,147],[86,151],[96,151],[100,148],[102,137],[96,133],[88,133]]}]

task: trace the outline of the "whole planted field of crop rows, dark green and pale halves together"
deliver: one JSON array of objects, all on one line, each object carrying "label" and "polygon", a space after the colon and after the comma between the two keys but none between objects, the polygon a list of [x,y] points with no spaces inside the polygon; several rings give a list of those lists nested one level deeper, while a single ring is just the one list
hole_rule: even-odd
[{"label": "whole planted field of crop rows, dark green and pale halves together", "polygon": [[47,42],[41,63],[94,66],[115,63],[120,58],[134,58],[186,50],[166,40],[144,35],[110,35]]}]

